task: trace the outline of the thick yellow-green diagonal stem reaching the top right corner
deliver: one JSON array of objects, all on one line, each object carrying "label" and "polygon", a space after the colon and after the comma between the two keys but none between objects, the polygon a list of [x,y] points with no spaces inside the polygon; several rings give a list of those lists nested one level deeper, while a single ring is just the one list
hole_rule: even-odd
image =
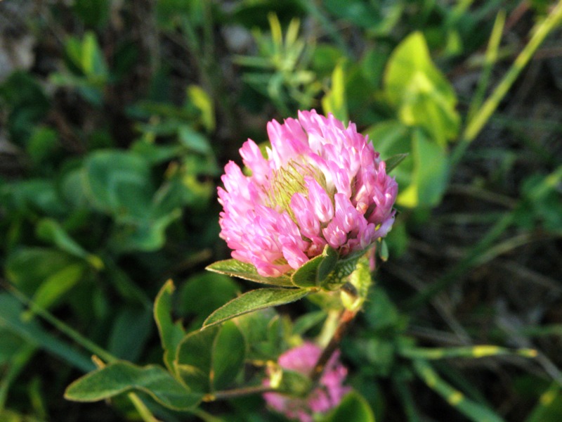
[{"label": "thick yellow-green diagonal stem reaching the top right corner", "polygon": [[515,59],[514,63],[511,65],[511,68],[507,71],[506,75],[499,82],[499,85],[496,89],[492,92],[490,97],[485,101],[482,108],[480,109],[479,113],[476,114],[466,125],[466,129],[464,129],[464,133],[462,134],[460,142],[457,144],[457,148],[453,151],[451,156],[452,165],[457,164],[466,148],[468,148],[471,141],[473,141],[476,136],[481,132],[484,125],[488,122],[492,114],[499,106],[499,102],[502,101],[502,98],[507,94],[507,91],[511,88],[511,85],[514,84],[515,80],[525,68],[525,65],[529,62],[532,58],[532,55],[535,53],[537,48],[542,44],[542,41],[547,37],[547,35],[556,27],[558,23],[562,20],[562,0],[558,1],[558,4],[552,9],[551,13],[547,16],[546,19],[540,23],[537,27],[537,30],[532,34],[531,39],[519,53],[517,58]]}]

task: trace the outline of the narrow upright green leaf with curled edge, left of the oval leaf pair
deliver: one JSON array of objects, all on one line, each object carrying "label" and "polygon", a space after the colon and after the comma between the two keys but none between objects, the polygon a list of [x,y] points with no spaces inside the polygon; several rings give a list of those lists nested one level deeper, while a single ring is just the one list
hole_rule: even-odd
[{"label": "narrow upright green leaf with curled edge, left of the oval leaf pair", "polygon": [[154,303],[154,319],[158,326],[162,348],[164,348],[164,364],[166,364],[166,368],[170,372],[174,372],[174,360],[176,360],[178,345],[185,336],[181,321],[177,321],[174,324],[174,321],[171,319],[171,295],[174,293],[174,290],[174,282],[171,280],[166,281],[156,296]]}]

